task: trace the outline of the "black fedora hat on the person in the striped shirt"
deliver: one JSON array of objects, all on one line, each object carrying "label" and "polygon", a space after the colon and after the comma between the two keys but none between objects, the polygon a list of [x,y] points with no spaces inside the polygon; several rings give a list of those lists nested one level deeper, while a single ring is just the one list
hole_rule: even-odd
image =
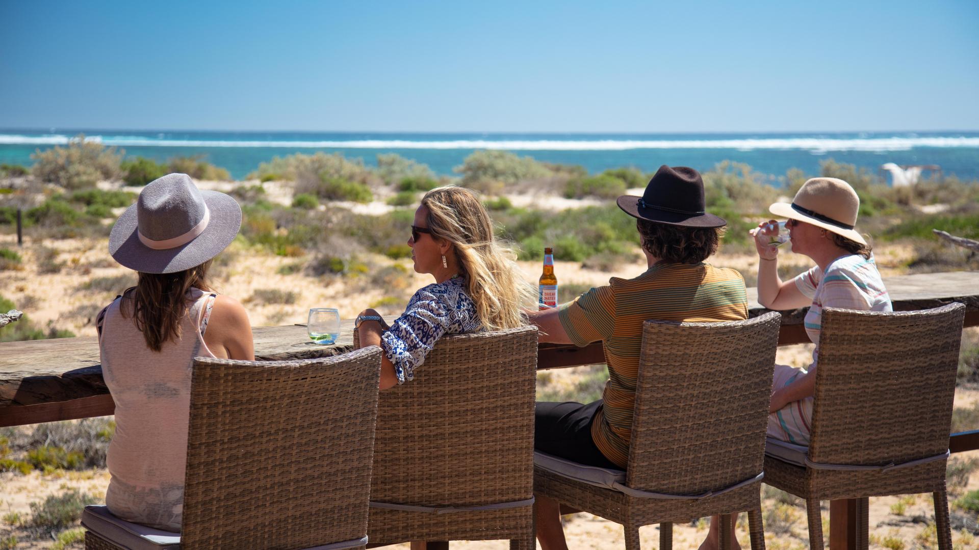
[{"label": "black fedora hat on the person in the striped shirt", "polygon": [[646,185],[642,197],[623,195],[617,201],[627,214],[639,219],[686,227],[722,227],[723,217],[704,211],[704,180],[686,166],[663,164]]}]

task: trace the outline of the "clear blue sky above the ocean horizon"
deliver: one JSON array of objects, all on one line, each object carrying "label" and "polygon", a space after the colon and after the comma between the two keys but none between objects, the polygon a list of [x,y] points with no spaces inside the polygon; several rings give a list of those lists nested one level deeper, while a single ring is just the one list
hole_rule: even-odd
[{"label": "clear blue sky above the ocean horizon", "polygon": [[0,0],[0,127],[979,128],[979,2]]}]

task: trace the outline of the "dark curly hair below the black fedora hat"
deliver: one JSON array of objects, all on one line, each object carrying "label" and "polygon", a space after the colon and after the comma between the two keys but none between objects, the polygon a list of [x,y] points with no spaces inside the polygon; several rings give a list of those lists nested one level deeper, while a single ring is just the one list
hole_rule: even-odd
[{"label": "dark curly hair below the black fedora hat", "polygon": [[700,263],[718,252],[725,228],[684,227],[635,220],[642,248],[659,259],[671,263]]}]

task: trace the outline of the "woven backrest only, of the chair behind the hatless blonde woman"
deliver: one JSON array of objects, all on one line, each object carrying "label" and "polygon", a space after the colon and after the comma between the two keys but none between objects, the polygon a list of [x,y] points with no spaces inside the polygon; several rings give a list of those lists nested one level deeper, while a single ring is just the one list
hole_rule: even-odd
[{"label": "woven backrest only, of the chair behind the hatless blonde woman", "polygon": [[371,501],[531,498],[536,364],[536,327],[441,338],[414,380],[381,392]]}]

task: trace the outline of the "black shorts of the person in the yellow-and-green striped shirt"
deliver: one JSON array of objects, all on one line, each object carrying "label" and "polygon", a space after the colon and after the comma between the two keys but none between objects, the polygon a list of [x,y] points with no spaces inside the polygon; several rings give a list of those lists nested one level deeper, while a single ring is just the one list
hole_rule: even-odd
[{"label": "black shorts of the person in the yellow-and-green striped shirt", "polygon": [[587,466],[622,470],[591,439],[591,422],[602,402],[598,399],[583,405],[575,401],[537,401],[534,449]]}]

